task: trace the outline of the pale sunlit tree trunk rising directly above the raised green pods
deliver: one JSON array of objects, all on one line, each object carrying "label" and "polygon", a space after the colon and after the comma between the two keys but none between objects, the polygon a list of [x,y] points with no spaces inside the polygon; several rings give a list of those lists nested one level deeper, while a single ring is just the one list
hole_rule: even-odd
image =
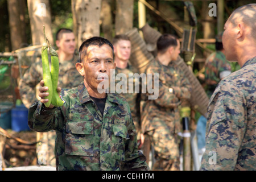
[{"label": "pale sunlit tree trunk rising directly above the raised green pods", "polygon": [[33,46],[42,45],[44,42],[43,25],[46,26],[46,36],[49,42],[54,45],[49,0],[27,0],[27,6]]}]

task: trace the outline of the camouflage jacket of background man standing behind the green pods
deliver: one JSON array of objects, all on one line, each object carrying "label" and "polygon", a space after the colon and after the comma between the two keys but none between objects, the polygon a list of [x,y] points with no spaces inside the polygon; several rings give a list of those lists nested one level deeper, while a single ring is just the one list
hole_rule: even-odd
[{"label": "camouflage jacket of background man standing behind the green pods", "polygon": [[[72,60],[61,61],[59,60],[59,80],[58,86],[61,88],[72,88],[80,84],[84,79],[77,71],[75,64],[77,56]],[[49,65],[51,67],[51,59]],[[34,102],[38,101],[36,98],[36,85],[43,80],[42,59],[38,57],[35,63],[31,64],[30,68],[26,71],[24,76],[19,81],[19,93],[22,98],[23,104],[29,108]]]}]

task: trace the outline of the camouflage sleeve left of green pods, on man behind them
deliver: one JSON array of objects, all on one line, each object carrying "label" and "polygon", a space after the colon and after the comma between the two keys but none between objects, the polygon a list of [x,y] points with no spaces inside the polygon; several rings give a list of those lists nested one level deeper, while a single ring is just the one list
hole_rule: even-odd
[{"label": "camouflage sleeve left of green pods, on man behind them", "polygon": [[26,71],[22,79],[19,81],[19,93],[23,104],[29,108],[34,102],[38,101],[36,98],[35,87],[43,79],[42,65],[40,65],[40,58],[36,63],[32,64]]}]

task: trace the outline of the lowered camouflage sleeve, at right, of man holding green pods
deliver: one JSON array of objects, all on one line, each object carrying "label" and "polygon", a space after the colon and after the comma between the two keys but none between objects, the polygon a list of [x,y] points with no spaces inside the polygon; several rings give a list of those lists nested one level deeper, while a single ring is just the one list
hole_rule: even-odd
[{"label": "lowered camouflage sleeve, at right, of man holding green pods", "polygon": [[[127,108],[130,113],[130,106],[127,104]],[[129,121],[127,123],[127,131],[129,134],[129,139],[126,140],[125,146],[125,165],[122,170],[133,170],[133,171],[149,171],[150,168],[146,163],[146,157],[138,150],[137,146],[137,134],[136,129],[129,114]]]}]

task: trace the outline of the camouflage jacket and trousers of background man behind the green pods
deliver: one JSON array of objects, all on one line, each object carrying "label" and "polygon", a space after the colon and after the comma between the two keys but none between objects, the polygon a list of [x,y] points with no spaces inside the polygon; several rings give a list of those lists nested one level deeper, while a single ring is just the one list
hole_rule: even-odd
[{"label": "camouflage jacket and trousers of background man behind the green pods", "polygon": [[[59,80],[58,86],[61,88],[72,88],[80,84],[83,77],[77,71],[75,64],[79,59],[74,56],[70,61],[59,60]],[[49,59],[51,67],[51,59]],[[19,93],[23,104],[29,108],[34,102],[38,101],[36,98],[36,85],[43,80],[42,59],[38,57],[35,63],[26,71],[23,78],[19,82]],[[38,154],[39,164],[46,164],[55,166],[54,145],[55,145],[55,131],[48,133],[38,133],[36,140],[36,153]]]}]

